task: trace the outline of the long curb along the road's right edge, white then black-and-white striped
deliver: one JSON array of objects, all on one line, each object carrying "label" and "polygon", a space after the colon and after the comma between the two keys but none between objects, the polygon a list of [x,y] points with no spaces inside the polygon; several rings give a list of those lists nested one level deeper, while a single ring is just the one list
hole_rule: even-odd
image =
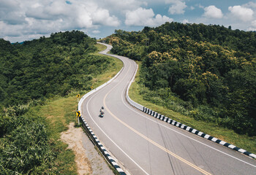
[{"label": "long curb along the road's right edge, white then black-and-white striped", "polygon": [[[137,71],[138,71],[138,66],[137,66],[137,69],[136,69],[136,71],[135,71],[135,75],[136,75],[136,72],[137,72]],[[255,155],[255,154],[252,154],[251,152],[247,152],[246,150],[241,149],[241,148],[239,148],[239,147],[236,147],[236,146],[233,145],[233,144],[229,144],[229,143],[227,143],[227,142],[225,142],[225,141],[222,141],[222,140],[220,140],[220,139],[217,139],[217,138],[215,138],[215,137],[213,137],[213,136],[209,136],[209,135],[206,134],[206,133],[197,131],[196,129],[191,128],[191,127],[189,127],[189,126],[187,126],[187,125],[184,125],[184,124],[182,124],[182,123],[178,123],[178,122],[176,122],[175,120],[170,119],[169,117],[165,117],[165,116],[162,115],[162,114],[158,114],[157,112],[154,112],[153,110],[148,109],[148,108],[146,108],[146,107],[144,107],[144,106],[142,106],[142,105],[136,103],[135,101],[132,101],[132,99],[129,98],[129,87],[132,85],[132,82],[133,82],[134,79],[135,79],[135,75],[134,75],[134,77],[132,78],[131,82],[129,82],[129,85],[128,85],[128,87],[127,87],[126,98],[127,98],[127,101],[129,102],[129,104],[131,104],[132,106],[134,106],[134,107],[137,108],[137,109],[140,109],[140,111],[142,111],[142,112],[145,112],[145,113],[147,113],[147,114],[150,114],[150,115],[153,116],[153,117],[156,117],[156,118],[159,119],[159,120],[162,120],[162,121],[164,121],[164,122],[166,122],[166,123],[169,123],[169,124],[171,124],[171,125],[175,125],[175,126],[177,126],[178,128],[182,128],[182,129],[184,129],[184,130],[186,130],[186,131],[189,131],[190,133],[195,133],[197,136],[201,136],[201,137],[203,137],[203,138],[205,138],[205,139],[208,139],[208,140],[210,140],[210,141],[214,141],[214,142],[216,142],[217,144],[222,144],[222,145],[225,146],[225,147],[229,147],[230,149],[234,149],[234,150],[236,150],[236,151],[238,151],[238,152],[243,153],[244,155],[248,155],[249,157],[256,159],[256,155]]]}]

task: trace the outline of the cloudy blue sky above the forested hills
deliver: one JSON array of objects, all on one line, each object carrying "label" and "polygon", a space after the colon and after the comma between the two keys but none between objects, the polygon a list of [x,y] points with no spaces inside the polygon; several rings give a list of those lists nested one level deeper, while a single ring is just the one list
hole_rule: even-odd
[{"label": "cloudy blue sky above the forested hills", "polygon": [[0,0],[0,38],[10,42],[72,30],[99,39],[165,22],[256,31],[256,0]]}]

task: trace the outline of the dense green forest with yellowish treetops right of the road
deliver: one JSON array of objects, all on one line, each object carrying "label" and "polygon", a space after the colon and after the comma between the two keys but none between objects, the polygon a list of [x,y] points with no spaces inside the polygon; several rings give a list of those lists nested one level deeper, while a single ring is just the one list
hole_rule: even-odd
[{"label": "dense green forest with yellowish treetops right of the road", "polygon": [[141,61],[140,94],[196,120],[256,136],[256,33],[165,23],[116,30],[113,53]]}]

